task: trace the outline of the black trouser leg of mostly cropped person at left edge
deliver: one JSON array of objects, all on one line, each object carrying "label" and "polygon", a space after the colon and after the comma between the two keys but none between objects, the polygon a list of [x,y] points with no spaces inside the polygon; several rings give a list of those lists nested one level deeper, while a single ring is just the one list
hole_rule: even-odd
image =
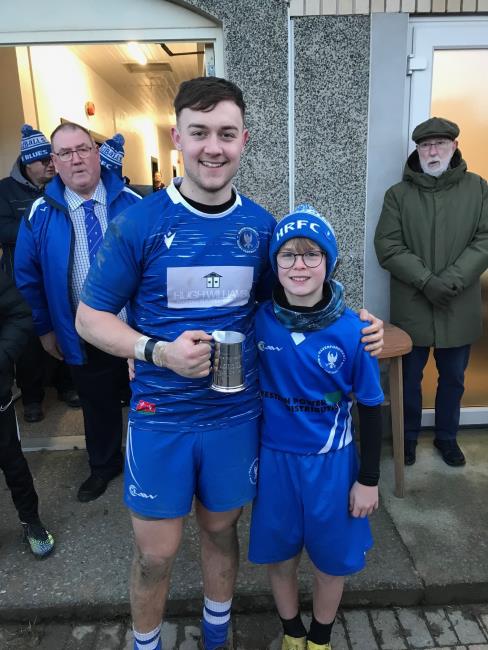
[{"label": "black trouser leg of mostly cropped person at left edge", "polygon": [[13,403],[0,410],[0,469],[5,474],[19,519],[25,523],[36,522],[39,519],[39,499],[20,446]]}]

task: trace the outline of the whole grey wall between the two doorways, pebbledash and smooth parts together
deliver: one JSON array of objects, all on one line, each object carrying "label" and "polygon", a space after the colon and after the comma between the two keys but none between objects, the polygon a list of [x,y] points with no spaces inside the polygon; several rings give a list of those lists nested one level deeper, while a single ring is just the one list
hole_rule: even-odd
[{"label": "whole grey wall between the two doorways, pebbledash and smooth parts together", "polygon": [[226,74],[248,101],[251,141],[238,186],[277,218],[301,202],[328,216],[348,303],[387,318],[388,277],[372,240],[407,155],[409,16],[482,13],[488,0],[184,4],[222,24]]}]

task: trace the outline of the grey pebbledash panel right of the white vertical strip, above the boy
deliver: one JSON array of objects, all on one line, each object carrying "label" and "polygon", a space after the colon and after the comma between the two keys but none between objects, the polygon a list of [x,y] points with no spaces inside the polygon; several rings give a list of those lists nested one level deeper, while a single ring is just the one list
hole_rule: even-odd
[{"label": "grey pebbledash panel right of the white vertical strip, above the boy", "polygon": [[338,278],[363,304],[369,16],[296,18],[295,197],[326,215],[339,241]]}]

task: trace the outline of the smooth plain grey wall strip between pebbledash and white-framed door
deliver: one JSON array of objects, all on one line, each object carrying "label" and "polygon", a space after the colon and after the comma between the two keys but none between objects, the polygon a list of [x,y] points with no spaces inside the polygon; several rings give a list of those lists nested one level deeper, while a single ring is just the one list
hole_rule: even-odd
[{"label": "smooth plain grey wall strip between pebbledash and white-framed door", "polygon": [[385,191],[401,180],[407,157],[407,36],[408,15],[372,16],[364,302],[385,320],[389,274],[378,265],[373,239]]}]

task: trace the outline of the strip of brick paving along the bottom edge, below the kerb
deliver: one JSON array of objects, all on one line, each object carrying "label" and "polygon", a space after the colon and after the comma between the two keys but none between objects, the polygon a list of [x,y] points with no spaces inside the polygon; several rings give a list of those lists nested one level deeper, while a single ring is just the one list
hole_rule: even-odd
[{"label": "strip of brick paving along the bottom edge, below the kerb", "polygon": [[[461,608],[343,609],[332,634],[334,650],[488,650],[488,605]],[[310,625],[310,613],[303,615]],[[197,650],[198,618],[173,617],[163,624],[164,650]],[[281,626],[272,613],[233,617],[234,650],[280,650]],[[132,650],[130,622],[114,620],[0,624],[2,650]]]}]

